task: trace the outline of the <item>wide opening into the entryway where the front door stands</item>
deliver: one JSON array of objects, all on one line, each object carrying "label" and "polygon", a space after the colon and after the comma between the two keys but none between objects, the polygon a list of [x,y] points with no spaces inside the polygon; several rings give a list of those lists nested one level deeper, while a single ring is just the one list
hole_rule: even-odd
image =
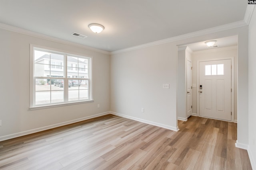
[{"label": "wide opening into the entryway where the front door stands", "polygon": [[[209,117],[213,119],[221,119],[226,121],[232,121],[237,123],[237,42],[238,36],[231,36],[231,37],[223,37],[216,40],[215,47],[207,47],[205,41],[198,42],[198,43],[191,43],[186,45],[178,46],[178,68],[177,68],[177,119],[186,121],[190,115],[194,116],[201,116],[201,117]],[[200,72],[203,72],[203,69],[200,68],[200,62],[215,62],[215,61],[228,61],[230,65],[230,78],[231,82],[229,86],[226,86],[226,89],[221,86],[221,84],[226,84],[226,80],[222,80],[221,77],[228,76],[226,68],[226,64],[224,63],[206,63],[204,64],[204,74],[207,74],[206,77],[212,77],[214,79],[214,86],[213,89],[210,90],[208,85],[210,85],[210,80],[205,79],[206,84],[202,85],[202,93],[200,93]],[[189,72],[189,65],[191,62],[191,76]],[[222,65],[223,64],[223,65]],[[206,66],[207,65],[207,66]],[[225,65],[225,66],[224,66]],[[232,67],[231,67],[232,65]],[[221,68],[223,66],[223,74],[220,75]],[[215,69],[216,67],[216,69]],[[208,75],[206,69],[211,71],[211,75]],[[215,74],[215,70],[216,74]],[[218,70],[218,72],[217,72]],[[213,73],[212,73],[213,72]],[[202,73],[203,74],[203,73]],[[212,75],[213,74],[213,75]],[[218,75],[219,74],[219,75]],[[214,77],[215,76],[215,77]],[[191,81],[190,81],[191,78]],[[202,80],[202,78],[201,78]],[[207,89],[206,89],[207,88]],[[229,89],[229,90],[228,90]],[[204,91],[203,91],[204,90]],[[205,90],[208,90],[207,92]],[[232,90],[232,91],[231,91]],[[212,96],[211,100],[209,96],[206,96],[205,103],[201,103],[200,101],[200,94],[205,94],[211,92],[211,94],[216,94],[215,97]],[[226,92],[226,93],[225,93]],[[229,92],[229,94],[227,93]],[[230,95],[231,93],[231,95]],[[207,95],[208,95],[207,94]],[[224,98],[225,95],[229,95],[229,98]],[[222,98],[221,98],[222,97]],[[223,102],[222,102],[223,101]],[[192,104],[190,104],[192,103]],[[201,104],[200,104],[201,103]],[[210,104],[211,103],[211,104]],[[228,103],[231,106],[226,106]],[[212,105],[214,104],[214,105]],[[211,107],[210,107],[211,105]],[[200,110],[200,106],[203,106]],[[214,107],[213,107],[214,106]],[[226,108],[225,108],[226,106]],[[209,107],[209,108],[208,108]],[[229,108],[229,110],[227,109]],[[224,113],[226,114],[226,118],[223,117],[216,117],[216,115],[207,115],[203,112],[203,110],[208,111],[216,111],[217,113]],[[224,111],[225,110],[225,111]],[[228,116],[227,116],[228,115]],[[228,118],[227,118],[228,117]]]}]

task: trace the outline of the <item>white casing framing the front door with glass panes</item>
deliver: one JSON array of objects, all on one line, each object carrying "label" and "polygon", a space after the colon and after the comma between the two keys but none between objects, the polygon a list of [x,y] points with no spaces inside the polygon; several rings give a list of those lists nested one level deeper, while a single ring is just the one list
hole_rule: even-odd
[{"label": "white casing framing the front door with glass panes", "polygon": [[231,121],[234,122],[234,57],[225,57],[225,58],[216,58],[216,59],[206,59],[206,60],[198,60],[197,61],[197,116],[199,116],[199,62],[203,62],[203,61],[216,61],[216,60],[225,60],[225,59],[231,59],[231,88],[232,88],[232,92],[231,92],[231,111],[232,111],[232,116],[231,116]]}]

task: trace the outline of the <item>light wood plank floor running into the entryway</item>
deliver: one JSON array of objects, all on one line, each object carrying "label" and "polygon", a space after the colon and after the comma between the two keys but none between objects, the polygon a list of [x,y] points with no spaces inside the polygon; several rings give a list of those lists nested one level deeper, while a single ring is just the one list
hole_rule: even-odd
[{"label": "light wood plank floor running into the entryway", "polygon": [[190,117],[180,131],[106,115],[0,142],[0,169],[251,170],[236,123]]}]

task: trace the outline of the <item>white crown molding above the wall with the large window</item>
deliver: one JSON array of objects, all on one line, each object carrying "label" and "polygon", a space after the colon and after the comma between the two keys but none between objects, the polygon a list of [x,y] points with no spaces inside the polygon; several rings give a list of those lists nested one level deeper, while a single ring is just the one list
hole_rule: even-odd
[{"label": "white crown molding above the wall with the large window", "polygon": [[94,52],[110,55],[109,51],[104,51],[104,50],[101,50],[101,49],[96,49],[96,48],[93,48],[93,47],[88,47],[86,45],[82,45],[82,44],[78,44],[78,43],[73,43],[71,41],[66,41],[66,40],[63,40],[63,39],[58,39],[58,38],[55,38],[55,37],[50,37],[48,35],[43,35],[43,34],[40,34],[40,33],[33,32],[33,31],[28,31],[26,29],[22,29],[22,28],[19,28],[19,27],[14,27],[14,26],[7,25],[7,24],[4,24],[4,23],[0,23],[0,28],[1,29],[6,29],[8,31],[13,31],[13,32],[16,32],[16,33],[30,35],[30,36],[41,38],[41,39],[46,39],[46,40],[49,40],[49,41],[54,41],[56,43],[61,43],[61,44],[70,45],[70,46],[73,46],[73,47],[79,47],[79,48],[82,48],[82,49],[86,49],[86,50],[90,50],[90,51],[94,51]]}]

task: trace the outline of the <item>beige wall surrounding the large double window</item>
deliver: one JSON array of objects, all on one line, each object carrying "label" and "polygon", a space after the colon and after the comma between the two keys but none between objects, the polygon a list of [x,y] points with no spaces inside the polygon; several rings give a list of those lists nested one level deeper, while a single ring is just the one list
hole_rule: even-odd
[{"label": "beige wall surrounding the large double window", "polygon": [[[5,29],[0,37],[0,140],[110,110],[110,55]],[[30,111],[30,43],[92,56],[94,102]]]}]

